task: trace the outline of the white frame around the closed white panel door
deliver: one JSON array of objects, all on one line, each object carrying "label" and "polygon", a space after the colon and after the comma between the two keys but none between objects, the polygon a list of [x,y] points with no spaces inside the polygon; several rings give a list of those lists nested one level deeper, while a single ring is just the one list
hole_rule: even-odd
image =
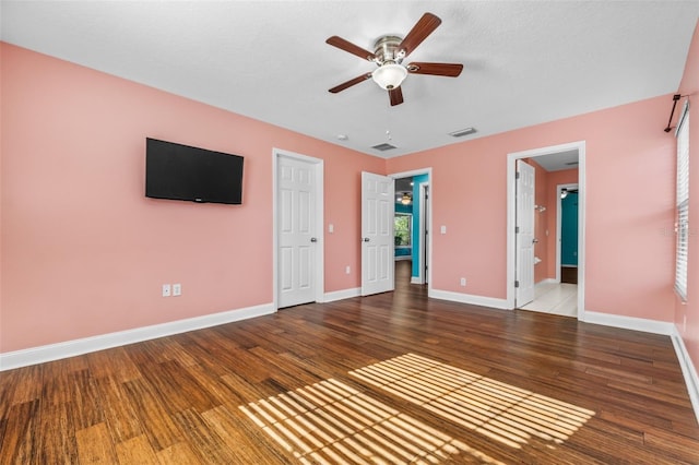
[{"label": "white frame around the closed white panel door", "polygon": [[277,205],[277,193],[279,193],[279,175],[277,175],[277,165],[279,159],[281,157],[293,158],[299,162],[305,162],[308,164],[312,164],[316,168],[316,237],[318,238],[318,245],[316,247],[316,270],[315,277],[316,282],[313,285],[316,286],[316,301],[323,302],[325,300],[325,287],[324,287],[324,278],[325,278],[325,258],[324,258],[324,249],[325,249],[325,240],[324,240],[324,223],[323,223],[323,170],[324,163],[321,158],[315,158],[308,155],[297,154],[294,152],[285,151],[282,148],[272,148],[272,286],[273,286],[273,306],[274,311],[279,310],[279,205]]}]

